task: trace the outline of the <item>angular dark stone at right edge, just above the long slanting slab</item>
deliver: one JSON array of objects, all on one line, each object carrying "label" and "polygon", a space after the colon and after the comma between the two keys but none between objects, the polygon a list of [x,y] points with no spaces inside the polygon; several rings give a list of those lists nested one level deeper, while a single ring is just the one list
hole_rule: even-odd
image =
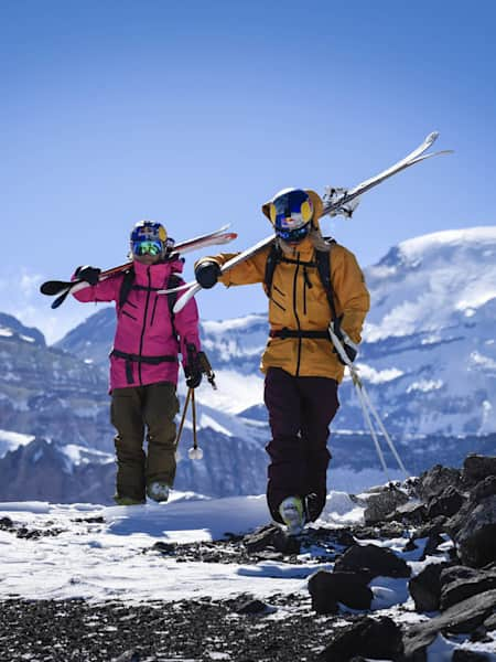
[{"label": "angular dark stone at right edge, just above the long slanting slab", "polygon": [[483,570],[466,566],[444,568],[440,575],[441,609],[444,611],[471,596],[496,588],[496,569]]}]

